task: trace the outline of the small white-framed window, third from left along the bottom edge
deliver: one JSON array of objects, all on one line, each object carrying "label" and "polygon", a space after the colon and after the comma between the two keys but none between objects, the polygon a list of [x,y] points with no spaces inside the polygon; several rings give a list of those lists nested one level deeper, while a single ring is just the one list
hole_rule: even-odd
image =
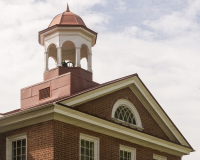
[{"label": "small white-framed window, third from left along the bottom edge", "polygon": [[136,149],[120,145],[120,160],[136,160]]}]

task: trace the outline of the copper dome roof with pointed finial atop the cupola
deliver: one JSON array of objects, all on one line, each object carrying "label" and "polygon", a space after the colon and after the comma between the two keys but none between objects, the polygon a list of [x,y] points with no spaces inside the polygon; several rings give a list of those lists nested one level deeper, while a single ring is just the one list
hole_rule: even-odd
[{"label": "copper dome roof with pointed finial atop the cupola", "polygon": [[[85,23],[78,15],[70,12],[67,5],[67,10],[59,15],[57,15],[50,23],[49,27],[54,25],[83,25],[86,27]],[[49,28],[48,27],[48,28]]]}]

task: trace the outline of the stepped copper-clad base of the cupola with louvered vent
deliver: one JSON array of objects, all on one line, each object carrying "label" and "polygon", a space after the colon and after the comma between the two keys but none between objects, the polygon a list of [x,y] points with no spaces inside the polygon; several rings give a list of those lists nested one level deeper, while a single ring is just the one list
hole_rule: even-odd
[{"label": "stepped copper-clad base of the cupola with louvered vent", "polygon": [[56,67],[44,73],[43,82],[21,89],[21,109],[57,101],[97,85],[87,70]]}]

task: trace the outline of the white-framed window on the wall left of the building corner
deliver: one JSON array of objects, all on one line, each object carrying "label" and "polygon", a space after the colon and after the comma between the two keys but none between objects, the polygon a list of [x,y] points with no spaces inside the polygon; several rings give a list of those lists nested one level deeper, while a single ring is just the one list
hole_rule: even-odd
[{"label": "white-framed window on the wall left of the building corner", "polygon": [[6,138],[6,159],[27,159],[27,136],[25,133]]}]

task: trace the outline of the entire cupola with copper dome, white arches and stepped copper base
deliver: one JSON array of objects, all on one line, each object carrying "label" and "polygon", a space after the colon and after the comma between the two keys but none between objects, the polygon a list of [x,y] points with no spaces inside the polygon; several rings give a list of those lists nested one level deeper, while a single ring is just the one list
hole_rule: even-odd
[{"label": "entire cupola with copper dome, white arches and stepped copper base", "polygon": [[[49,26],[39,32],[44,46],[44,81],[21,89],[21,109],[56,101],[85,89],[97,86],[92,78],[92,47],[97,33],[84,21],[67,10],[57,15]],[[52,57],[56,67],[49,70]],[[87,69],[81,59],[87,59]]]}]

